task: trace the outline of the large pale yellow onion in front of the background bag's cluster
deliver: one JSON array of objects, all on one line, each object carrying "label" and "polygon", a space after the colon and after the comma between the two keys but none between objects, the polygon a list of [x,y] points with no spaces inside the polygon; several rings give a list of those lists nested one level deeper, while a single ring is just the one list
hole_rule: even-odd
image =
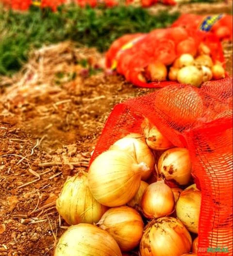
[{"label": "large pale yellow onion in front of the background bag's cluster", "polygon": [[181,84],[200,87],[202,83],[202,72],[195,66],[184,67],[178,71],[177,80]]}]

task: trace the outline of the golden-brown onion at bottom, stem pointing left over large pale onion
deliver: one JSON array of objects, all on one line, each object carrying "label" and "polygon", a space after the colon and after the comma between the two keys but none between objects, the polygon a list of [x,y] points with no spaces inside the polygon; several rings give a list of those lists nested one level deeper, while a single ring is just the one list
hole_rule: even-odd
[{"label": "golden-brown onion at bottom, stem pointing left over large pale onion", "polygon": [[107,210],[97,225],[113,236],[123,252],[131,251],[140,243],[144,228],[141,215],[128,206]]}]

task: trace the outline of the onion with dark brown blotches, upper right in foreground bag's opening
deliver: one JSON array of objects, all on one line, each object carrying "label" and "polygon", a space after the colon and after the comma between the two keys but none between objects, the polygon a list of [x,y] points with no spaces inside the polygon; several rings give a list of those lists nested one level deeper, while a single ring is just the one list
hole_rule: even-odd
[{"label": "onion with dark brown blotches, upper right in foreground bag's opening", "polygon": [[158,174],[177,185],[187,185],[191,179],[191,159],[185,148],[172,148],[165,151],[158,161]]}]

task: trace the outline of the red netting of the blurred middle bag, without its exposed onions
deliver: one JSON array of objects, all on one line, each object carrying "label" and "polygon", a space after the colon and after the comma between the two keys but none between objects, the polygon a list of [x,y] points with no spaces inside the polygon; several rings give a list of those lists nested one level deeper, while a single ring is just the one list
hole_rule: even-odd
[{"label": "red netting of the blurred middle bag, without its exposed onions", "polygon": [[149,34],[133,34],[132,38],[126,35],[117,39],[106,54],[106,65],[108,68],[116,68],[119,74],[124,75],[126,80],[134,85],[148,88],[164,87],[172,82],[145,83],[139,79],[139,74],[154,61],[160,61],[166,66],[172,64],[181,55],[180,43],[186,39],[192,40],[194,50],[204,42],[211,49],[212,59],[224,62],[221,44],[214,34],[168,28],[156,29]]}]

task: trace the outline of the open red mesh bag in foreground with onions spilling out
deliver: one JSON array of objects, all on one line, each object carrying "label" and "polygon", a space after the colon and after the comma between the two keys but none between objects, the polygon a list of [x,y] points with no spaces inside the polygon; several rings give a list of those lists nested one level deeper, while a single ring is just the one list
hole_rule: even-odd
[{"label": "open red mesh bag in foreground with onions spilling out", "polygon": [[232,255],[232,99],[228,77],[117,104],[57,199],[55,256]]}]

